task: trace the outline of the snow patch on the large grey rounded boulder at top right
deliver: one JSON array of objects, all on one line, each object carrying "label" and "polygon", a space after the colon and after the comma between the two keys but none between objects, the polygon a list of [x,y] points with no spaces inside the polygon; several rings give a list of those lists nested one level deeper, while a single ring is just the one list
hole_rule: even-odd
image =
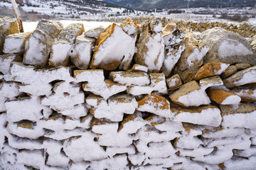
[{"label": "snow patch on the large grey rounded boulder at top right", "polygon": [[218,55],[222,58],[235,55],[252,55],[252,51],[240,42],[233,43],[223,40],[218,47]]}]

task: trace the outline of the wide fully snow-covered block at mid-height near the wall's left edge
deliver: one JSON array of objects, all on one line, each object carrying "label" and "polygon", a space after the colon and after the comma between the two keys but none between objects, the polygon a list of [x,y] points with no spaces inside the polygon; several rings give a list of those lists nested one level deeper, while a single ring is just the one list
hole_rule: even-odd
[{"label": "wide fully snow-covered block at mid-height near the wall's left edge", "polygon": [[[51,113],[50,109],[41,105],[40,98],[36,96],[18,98],[14,101],[6,101],[6,120],[18,122],[21,120],[31,120],[36,122]],[[43,110],[43,114],[42,114]]]}]

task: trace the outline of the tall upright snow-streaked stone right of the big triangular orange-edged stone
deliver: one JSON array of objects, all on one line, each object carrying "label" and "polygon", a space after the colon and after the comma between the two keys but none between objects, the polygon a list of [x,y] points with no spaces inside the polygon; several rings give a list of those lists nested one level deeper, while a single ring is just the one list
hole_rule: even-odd
[{"label": "tall upright snow-streaked stone right of the big triangular orange-edged stone", "polygon": [[164,62],[164,39],[160,21],[144,21],[137,42],[135,62],[148,67],[149,71],[159,71]]}]

